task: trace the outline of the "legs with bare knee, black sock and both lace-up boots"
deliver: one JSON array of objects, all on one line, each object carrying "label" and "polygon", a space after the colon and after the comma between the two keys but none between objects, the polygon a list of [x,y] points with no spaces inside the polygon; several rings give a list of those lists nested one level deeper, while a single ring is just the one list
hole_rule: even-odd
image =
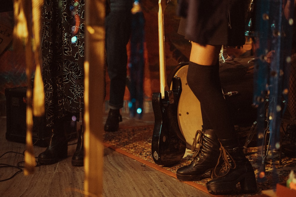
[{"label": "legs with bare knee, black sock and both lace-up boots", "polygon": [[[230,194],[235,190],[236,184],[241,183],[243,192],[257,190],[252,165],[239,148],[234,126],[227,110],[227,103],[223,97],[218,74],[218,55],[221,46],[201,46],[192,43],[190,63],[187,73],[187,82],[194,95],[201,103],[203,119],[207,119],[213,126],[213,148],[208,149],[208,143],[201,143],[199,153],[188,166],[177,170],[177,177],[181,180],[198,180],[203,173],[214,169],[213,180],[207,183],[207,189],[213,194]],[[202,132],[202,140],[207,141]],[[227,155],[223,157],[224,163],[219,165],[220,172],[216,170],[220,157],[217,152]],[[222,158],[221,158],[222,159]],[[222,163],[222,162],[221,162]],[[217,169],[218,169],[217,168]]]}]

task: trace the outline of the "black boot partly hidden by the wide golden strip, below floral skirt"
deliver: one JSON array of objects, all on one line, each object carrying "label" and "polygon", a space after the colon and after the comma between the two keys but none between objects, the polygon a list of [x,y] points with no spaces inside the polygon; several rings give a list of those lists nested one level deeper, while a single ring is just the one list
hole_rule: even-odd
[{"label": "black boot partly hidden by the wide golden strip, below floral skirt", "polygon": [[83,158],[84,158],[84,140],[83,140],[83,135],[84,135],[84,129],[83,126],[81,125],[80,130],[78,131],[78,140],[77,140],[77,146],[76,146],[76,151],[73,154],[72,157],[72,165],[73,166],[83,166]]}]

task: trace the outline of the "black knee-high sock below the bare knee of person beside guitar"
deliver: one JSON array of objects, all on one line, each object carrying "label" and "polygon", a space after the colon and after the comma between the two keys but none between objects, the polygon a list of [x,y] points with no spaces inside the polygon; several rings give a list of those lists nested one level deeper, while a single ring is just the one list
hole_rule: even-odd
[{"label": "black knee-high sock below the bare knee of person beside guitar", "polygon": [[206,128],[212,127],[219,139],[234,138],[234,126],[223,97],[218,63],[203,66],[189,62],[187,83],[200,101]]}]

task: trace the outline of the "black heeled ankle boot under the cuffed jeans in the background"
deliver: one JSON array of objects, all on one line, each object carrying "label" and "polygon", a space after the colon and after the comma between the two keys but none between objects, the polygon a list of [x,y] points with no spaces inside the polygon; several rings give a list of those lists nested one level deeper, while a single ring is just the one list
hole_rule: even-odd
[{"label": "black heeled ankle boot under the cuffed jeans in the background", "polygon": [[122,116],[120,115],[119,109],[109,110],[108,118],[104,126],[105,131],[117,131],[119,127],[119,122],[122,121]]}]

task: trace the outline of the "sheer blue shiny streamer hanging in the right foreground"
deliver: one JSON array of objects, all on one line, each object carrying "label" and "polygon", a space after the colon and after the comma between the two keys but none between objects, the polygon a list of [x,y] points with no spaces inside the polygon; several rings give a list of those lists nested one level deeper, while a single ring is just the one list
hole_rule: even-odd
[{"label": "sheer blue shiny streamer hanging in the right foreground", "polygon": [[[254,105],[258,107],[258,181],[265,180],[268,150],[280,148],[281,117],[288,101],[289,68],[292,52],[294,2],[291,0],[256,1],[256,56]],[[278,182],[274,172],[274,186]]]}]

